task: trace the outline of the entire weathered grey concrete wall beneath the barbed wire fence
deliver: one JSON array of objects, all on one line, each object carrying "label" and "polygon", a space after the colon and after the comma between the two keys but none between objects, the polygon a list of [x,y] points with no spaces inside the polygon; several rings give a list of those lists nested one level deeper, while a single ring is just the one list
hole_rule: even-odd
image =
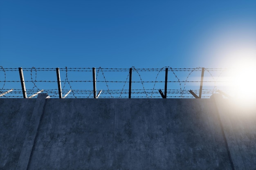
[{"label": "entire weathered grey concrete wall beneath the barbed wire fence", "polygon": [[[225,99],[0,99],[0,169],[256,169]],[[239,126],[235,126],[239,124]]]}]

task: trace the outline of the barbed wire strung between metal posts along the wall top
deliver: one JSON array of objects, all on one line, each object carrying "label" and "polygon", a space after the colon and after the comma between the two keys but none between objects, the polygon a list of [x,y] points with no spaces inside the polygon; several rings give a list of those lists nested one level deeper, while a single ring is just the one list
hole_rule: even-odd
[{"label": "barbed wire strung between metal posts along the wall top", "polygon": [[[138,94],[137,97],[146,97],[146,98],[161,98],[161,95],[159,94],[158,89],[161,88],[161,83],[164,83],[165,80],[159,80],[160,73],[164,73],[164,68],[168,68],[168,72],[171,72],[174,77],[171,77],[168,75],[168,81],[167,83],[171,83],[171,89],[167,89],[166,93],[168,94],[168,97],[193,97],[189,90],[191,89],[191,84],[197,84],[200,81],[200,79],[195,80],[189,80],[191,75],[194,72],[201,72],[202,67],[197,68],[172,68],[170,66],[165,66],[162,68],[135,68],[134,66],[131,67],[132,71],[135,72],[135,75],[132,75],[132,84],[133,88],[131,91],[132,95]],[[30,80],[25,81],[26,87],[27,87],[27,93],[29,95],[33,95],[34,93],[37,93],[38,91],[41,91],[44,89],[44,93],[48,93],[51,97],[58,97],[58,88],[51,88],[56,86],[57,79],[56,79],[56,68],[22,68],[24,72],[24,77],[28,76],[27,73],[30,74]],[[129,70],[130,68],[96,68],[97,75],[96,75],[96,81],[98,84],[100,84],[99,88],[101,90],[100,98],[108,98],[108,97],[115,97],[115,98],[127,98],[128,96],[128,88],[126,88],[126,83],[128,81],[129,77]],[[45,71],[52,72],[51,78],[47,77],[45,75]],[[61,81],[63,84],[62,86],[62,92],[63,93],[72,93],[72,96],[67,97],[74,97],[74,98],[81,98],[81,97],[87,97],[90,98],[93,94],[92,84],[84,86],[84,84],[93,82],[92,76],[86,76],[86,79],[81,79],[80,76],[74,76],[72,75],[72,79],[69,79],[70,75],[69,72],[74,72],[75,74],[78,72],[81,72],[82,74],[87,72],[86,74],[92,73],[92,68],[59,68],[59,71],[61,73],[65,73],[65,80]],[[202,97],[209,97],[211,94],[216,93],[217,91],[217,85],[216,83],[219,82],[227,82],[223,80],[219,80],[220,75],[224,73],[225,71],[229,71],[229,69],[225,68],[205,68],[205,71],[209,74],[209,77],[211,77],[211,80],[207,79],[204,80],[203,83],[212,83],[212,86],[210,89],[203,88],[202,89]],[[40,72],[40,73],[39,73]],[[42,74],[43,72],[43,74]],[[91,73],[90,73],[91,72]],[[106,74],[105,74],[106,72]],[[110,74],[108,75],[107,74]],[[115,73],[111,72],[118,72],[121,73],[121,77],[116,77]],[[123,73],[122,73],[123,72]],[[10,75],[8,73],[11,73]],[[13,74],[15,73],[15,74]],[[102,77],[100,76],[100,73],[102,74]],[[143,75],[142,75],[143,73]],[[179,75],[182,73],[183,75]],[[213,75],[213,73],[218,73],[217,75]],[[73,73],[72,73],[73,74]],[[127,76],[126,76],[127,75]],[[153,75],[155,75],[155,78],[153,78]],[[184,76],[186,75],[186,76]],[[6,91],[9,91],[11,88],[13,91],[10,93],[7,93],[5,95],[2,95],[2,97],[22,97],[22,88],[20,86],[20,80],[19,80],[19,69],[18,68],[3,68],[0,66],[0,95]],[[74,79],[79,77],[80,79]],[[152,80],[146,80],[150,77]],[[185,77],[181,79],[181,77]],[[198,75],[198,77],[200,77]],[[8,78],[8,79],[7,79]],[[116,78],[116,79],[113,79]],[[155,79],[155,81],[153,80]],[[55,85],[52,85],[52,83],[56,83]],[[104,83],[105,85],[101,84]],[[137,84],[138,83],[138,84]],[[67,88],[67,84],[69,86]],[[140,85],[139,85],[140,84]],[[190,86],[188,85],[190,84]],[[27,86],[28,85],[28,86]],[[120,87],[121,85],[121,87]],[[153,85],[153,86],[152,86]],[[8,86],[8,88],[7,88]],[[98,85],[97,85],[98,86]],[[141,88],[139,87],[141,86]],[[150,88],[148,88],[151,86]],[[183,86],[183,88],[182,88]],[[189,88],[187,88],[189,86]],[[43,88],[41,88],[43,87]],[[146,88],[147,87],[147,88]],[[86,89],[84,89],[86,88]],[[114,88],[114,89],[113,89]],[[199,88],[199,87],[198,87]],[[163,89],[163,88],[162,88]],[[199,93],[198,89],[195,89],[193,87],[194,93]],[[13,95],[13,94],[16,94]],[[135,96],[132,96],[134,98]]]}]

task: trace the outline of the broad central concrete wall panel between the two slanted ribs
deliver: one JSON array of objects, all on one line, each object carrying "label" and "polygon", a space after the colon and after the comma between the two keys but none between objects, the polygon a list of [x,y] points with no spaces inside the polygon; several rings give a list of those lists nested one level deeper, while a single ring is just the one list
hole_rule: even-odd
[{"label": "broad central concrete wall panel between the two slanted ribs", "polygon": [[30,170],[231,169],[210,99],[47,99]]}]

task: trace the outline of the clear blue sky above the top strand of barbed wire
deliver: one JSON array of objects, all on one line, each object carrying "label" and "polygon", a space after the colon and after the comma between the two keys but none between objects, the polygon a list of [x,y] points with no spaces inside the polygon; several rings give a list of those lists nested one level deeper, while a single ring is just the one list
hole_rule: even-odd
[{"label": "clear blue sky above the top strand of barbed wire", "polygon": [[256,0],[0,2],[4,68],[223,68],[255,48]]}]

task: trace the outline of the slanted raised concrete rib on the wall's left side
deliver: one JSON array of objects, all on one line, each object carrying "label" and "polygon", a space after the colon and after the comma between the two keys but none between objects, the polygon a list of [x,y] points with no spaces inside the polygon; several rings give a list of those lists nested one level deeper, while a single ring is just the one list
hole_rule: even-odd
[{"label": "slanted raised concrete rib on the wall's left side", "polygon": [[27,170],[30,156],[34,147],[36,135],[40,125],[40,120],[43,115],[46,98],[49,96],[45,93],[38,94],[33,113],[29,122],[29,127],[25,136],[25,140],[20,152],[16,170]]}]

